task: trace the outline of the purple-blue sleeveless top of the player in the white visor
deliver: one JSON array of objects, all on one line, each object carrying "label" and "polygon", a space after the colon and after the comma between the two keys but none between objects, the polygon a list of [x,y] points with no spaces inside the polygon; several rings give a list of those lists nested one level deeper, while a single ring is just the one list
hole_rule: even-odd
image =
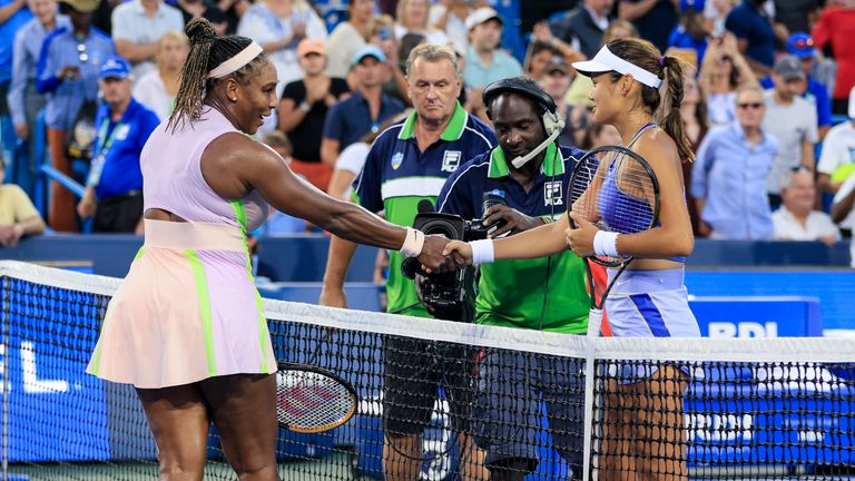
[{"label": "purple-blue sleeveless top of the player in the white visor", "polygon": [[[656,127],[659,127],[656,125],[656,122],[648,122],[643,125],[640,129],[638,129],[636,135],[632,136],[632,139],[627,145],[627,148],[631,148],[632,145],[638,141],[641,135]],[[609,227],[620,233],[636,234],[646,230],[650,226],[653,213],[651,212],[647,199],[637,198],[625,194],[618,187],[617,179],[615,178],[617,175],[616,170],[617,168],[615,165],[609,166],[609,170],[606,173],[606,178],[603,179],[602,186],[600,187],[600,192],[597,197],[597,207],[599,209],[600,217],[606,222],[606,224],[609,225]],[[615,205],[618,203],[618,200],[620,200],[621,204],[631,206],[631,208],[636,212],[645,214],[633,218],[619,219],[617,217],[617,209],[615,208]],[[657,222],[656,225],[659,226],[659,223]],[[668,261],[685,263],[686,257],[671,257]]]}]

